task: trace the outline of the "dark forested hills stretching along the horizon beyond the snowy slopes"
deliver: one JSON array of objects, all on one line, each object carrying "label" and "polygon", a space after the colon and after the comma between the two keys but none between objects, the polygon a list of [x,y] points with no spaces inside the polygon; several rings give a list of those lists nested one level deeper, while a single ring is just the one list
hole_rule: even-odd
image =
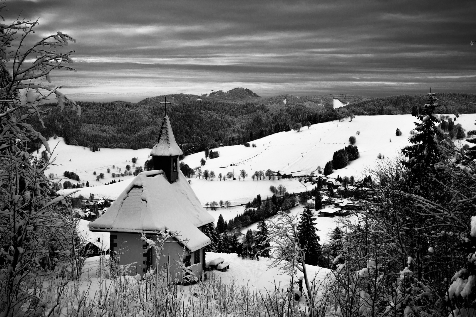
[{"label": "dark forested hills stretching along the horizon beyond the snowy slopes", "polygon": [[[425,96],[327,95],[259,97],[249,89],[219,91],[211,96],[185,94],[167,95],[167,107],[177,142],[184,153],[191,154],[224,145],[241,144],[276,132],[288,130],[295,123],[303,126],[355,115],[411,113],[413,106],[422,106]],[[439,94],[442,113],[464,113],[475,95]],[[165,96],[146,98],[137,104],[116,102],[78,102],[82,114],[75,115],[52,107],[43,118],[46,128],[33,122],[45,136],[63,136],[68,144],[96,147],[152,148],[157,142],[164,115]],[[333,109],[332,99],[350,102]],[[47,105],[46,105],[47,106]],[[475,112],[470,106],[469,112]]]}]

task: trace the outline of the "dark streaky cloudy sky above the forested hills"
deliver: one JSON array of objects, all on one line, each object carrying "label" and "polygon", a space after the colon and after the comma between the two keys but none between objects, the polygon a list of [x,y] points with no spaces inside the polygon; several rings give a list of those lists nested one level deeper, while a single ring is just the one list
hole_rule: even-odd
[{"label": "dark streaky cloudy sky above the forested hills", "polygon": [[40,19],[77,72],[53,83],[75,100],[476,93],[476,1],[7,0],[6,20]]}]

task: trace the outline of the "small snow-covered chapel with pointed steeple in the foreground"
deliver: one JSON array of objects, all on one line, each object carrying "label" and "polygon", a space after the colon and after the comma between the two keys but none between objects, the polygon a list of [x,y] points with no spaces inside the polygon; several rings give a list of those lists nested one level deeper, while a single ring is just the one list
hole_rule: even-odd
[{"label": "small snow-covered chapel with pointed steeple in the foreground", "polygon": [[[132,264],[130,274],[141,274],[151,265],[163,266],[171,278],[182,282],[180,265],[185,263],[195,277],[202,276],[204,248],[211,243],[204,226],[214,219],[180,172],[181,154],[165,115],[159,142],[150,152],[153,170],[139,173],[109,209],[89,224],[91,231],[110,233],[111,256],[117,257],[119,265]],[[145,252],[147,244],[141,234],[155,240],[160,231],[176,232],[177,236],[165,243],[163,254],[157,256],[151,249]]]}]

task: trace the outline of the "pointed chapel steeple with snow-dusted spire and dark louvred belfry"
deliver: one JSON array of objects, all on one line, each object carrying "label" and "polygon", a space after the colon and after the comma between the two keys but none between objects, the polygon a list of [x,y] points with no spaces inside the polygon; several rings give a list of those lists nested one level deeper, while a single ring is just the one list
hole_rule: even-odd
[{"label": "pointed chapel steeple with snow-dusted spire and dark louvred belfry", "polygon": [[175,141],[169,116],[166,114],[160,127],[159,141],[155,144],[152,155],[154,170],[164,171],[169,183],[178,181],[178,156],[183,154]]}]

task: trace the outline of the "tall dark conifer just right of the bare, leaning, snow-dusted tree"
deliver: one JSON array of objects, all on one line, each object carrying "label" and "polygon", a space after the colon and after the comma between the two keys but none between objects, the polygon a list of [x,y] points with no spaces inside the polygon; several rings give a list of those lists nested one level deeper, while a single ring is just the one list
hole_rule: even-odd
[{"label": "tall dark conifer just right of the bare, leaning, snow-dusted tree", "polygon": [[297,238],[301,249],[306,254],[306,264],[309,265],[322,265],[322,252],[319,245],[319,236],[316,234],[316,227],[314,221],[316,218],[314,214],[306,207],[301,213],[301,220],[297,225]]}]

